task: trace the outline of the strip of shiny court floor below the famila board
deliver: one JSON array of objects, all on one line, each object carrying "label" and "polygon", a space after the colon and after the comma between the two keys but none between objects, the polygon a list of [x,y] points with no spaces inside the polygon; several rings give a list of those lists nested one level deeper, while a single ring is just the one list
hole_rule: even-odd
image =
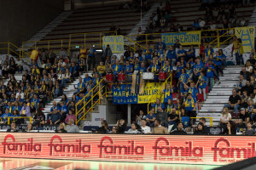
[{"label": "strip of shiny court floor below the famila board", "polygon": [[38,169],[79,169],[79,170],[208,170],[218,166],[132,163],[109,161],[67,161],[45,159],[1,158],[0,169],[3,170],[38,170]]}]

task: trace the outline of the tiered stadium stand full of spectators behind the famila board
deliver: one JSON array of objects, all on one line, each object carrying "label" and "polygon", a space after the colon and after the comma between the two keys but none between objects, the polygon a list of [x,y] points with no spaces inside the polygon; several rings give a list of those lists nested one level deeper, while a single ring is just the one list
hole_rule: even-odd
[{"label": "tiered stadium stand full of spectators behind the famila board", "polygon": [[[2,56],[2,122],[9,124],[17,120],[15,116],[33,116],[32,126],[37,130],[44,130],[47,124],[49,127],[65,122],[68,126],[76,124],[86,132],[97,133],[110,133],[109,127],[116,128],[112,133],[172,133],[173,129],[183,132],[183,127],[178,127],[182,124],[187,133],[192,127],[197,134],[208,134],[210,127],[219,126],[223,133],[233,134],[250,126],[248,119],[253,125],[256,117],[255,54],[252,49],[250,59],[240,63],[242,44],[234,35],[233,27],[247,26],[254,5],[244,7],[229,2],[207,5],[188,0],[149,2],[147,6],[143,4],[143,17],[136,5],[118,2],[64,14],[63,18],[56,19],[57,23],[49,24],[51,28],[39,31],[39,39],[33,39],[35,36],[32,41],[24,42],[22,49],[29,49],[27,53],[32,63],[22,59],[23,65],[19,59]],[[143,22],[138,23],[141,17]],[[169,48],[160,39],[161,32],[182,31],[201,31],[204,43],[199,48],[193,44],[183,48],[176,40]],[[225,34],[228,36],[222,36]],[[102,54],[96,52],[102,48],[102,36],[108,35],[129,38],[126,37],[125,54],[119,59],[111,48],[103,49]],[[39,41],[41,38],[43,41]],[[236,65],[227,67],[229,56],[219,48],[220,44],[224,48],[230,43],[237,55],[233,62]],[[165,74],[162,80],[166,85],[162,89],[164,101],[149,102],[148,111],[142,106],[136,118],[128,118],[135,121],[129,130],[125,118],[111,126],[102,121],[99,129],[84,127],[84,120],[91,120],[92,114],[106,105],[108,93],[113,97],[113,86],[134,82],[134,71],[152,73],[154,78],[150,82],[160,82],[160,73]],[[124,76],[125,81],[119,75]],[[26,111],[26,107],[30,111]],[[20,115],[15,110],[20,111]],[[16,123],[22,124],[23,119]],[[56,132],[65,131],[58,129]]]}]

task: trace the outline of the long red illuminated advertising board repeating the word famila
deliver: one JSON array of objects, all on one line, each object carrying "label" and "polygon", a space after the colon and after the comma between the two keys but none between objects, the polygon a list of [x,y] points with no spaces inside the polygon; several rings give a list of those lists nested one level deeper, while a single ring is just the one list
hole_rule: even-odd
[{"label": "long red illuminated advertising board repeating the word famila", "polygon": [[0,133],[0,156],[224,165],[255,156],[256,137]]}]

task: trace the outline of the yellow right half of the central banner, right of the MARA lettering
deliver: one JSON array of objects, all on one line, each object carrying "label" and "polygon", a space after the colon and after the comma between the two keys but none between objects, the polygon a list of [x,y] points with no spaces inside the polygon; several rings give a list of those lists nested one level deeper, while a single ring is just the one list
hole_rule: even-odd
[{"label": "yellow right half of the central banner, right of the MARA lettering", "polygon": [[138,104],[154,103],[156,99],[160,99],[162,85],[163,83],[160,83],[160,82],[157,82],[157,83],[147,82],[143,90],[143,94],[137,95],[137,103]]}]

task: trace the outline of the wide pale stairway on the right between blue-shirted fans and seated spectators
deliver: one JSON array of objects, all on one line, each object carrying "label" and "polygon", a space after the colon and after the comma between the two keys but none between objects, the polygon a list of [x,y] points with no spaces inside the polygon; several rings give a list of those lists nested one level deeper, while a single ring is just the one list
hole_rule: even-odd
[{"label": "wide pale stairway on the right between blue-shirted fans and seated spectators", "polygon": [[[240,71],[239,66],[229,66],[224,70],[224,77],[219,77],[221,83],[213,86],[197,117],[212,117],[213,127],[218,126],[224,104],[228,103],[232,89],[236,88]],[[209,125],[210,122],[207,119],[207,126]]]}]

